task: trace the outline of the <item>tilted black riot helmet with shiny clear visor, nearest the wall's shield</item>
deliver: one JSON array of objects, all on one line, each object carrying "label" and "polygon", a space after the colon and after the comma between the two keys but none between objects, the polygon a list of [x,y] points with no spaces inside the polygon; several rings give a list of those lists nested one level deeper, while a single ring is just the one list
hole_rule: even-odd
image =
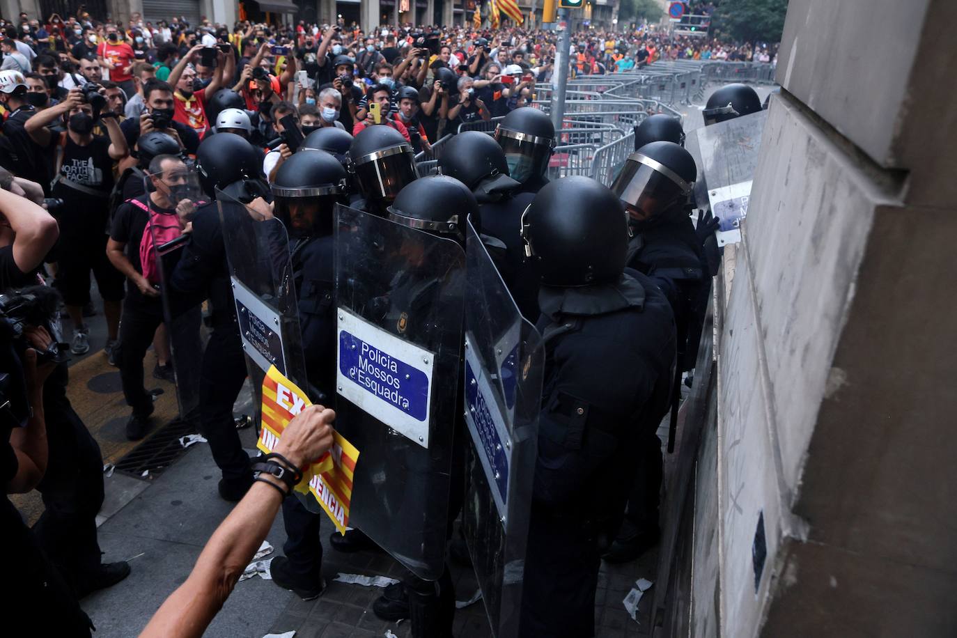
[{"label": "tilted black riot helmet with shiny clear visor, nearest the wall's shield", "polygon": [[645,221],[686,199],[697,178],[691,153],[673,142],[653,142],[628,156],[612,190],[635,221]]}]

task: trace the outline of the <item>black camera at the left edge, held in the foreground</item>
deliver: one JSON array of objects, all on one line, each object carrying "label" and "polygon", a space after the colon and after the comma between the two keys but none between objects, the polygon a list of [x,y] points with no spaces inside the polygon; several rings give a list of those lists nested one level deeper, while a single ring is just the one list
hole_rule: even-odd
[{"label": "black camera at the left edge, held in the foreground", "polygon": [[59,305],[59,293],[50,286],[28,286],[0,295],[0,322],[12,333],[13,345],[21,361],[27,348],[33,347],[24,336],[31,326],[45,328],[53,338],[46,350],[36,352],[37,365],[69,360],[66,354],[68,344],[63,342],[57,315]]}]

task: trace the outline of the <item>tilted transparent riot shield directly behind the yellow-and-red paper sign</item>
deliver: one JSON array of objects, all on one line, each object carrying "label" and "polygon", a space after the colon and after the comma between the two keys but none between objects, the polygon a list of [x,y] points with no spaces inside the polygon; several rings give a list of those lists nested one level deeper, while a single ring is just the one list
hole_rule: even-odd
[{"label": "tilted transparent riot shield directly behind the yellow-and-red paper sign", "polygon": [[[261,200],[260,200],[261,202]],[[262,382],[273,365],[317,400],[306,378],[292,253],[285,226],[259,202],[243,204],[216,190],[216,205],[229,262],[236,320],[246,369],[256,394],[256,424],[261,422]],[[311,512],[322,512],[312,495],[294,493]]]}]

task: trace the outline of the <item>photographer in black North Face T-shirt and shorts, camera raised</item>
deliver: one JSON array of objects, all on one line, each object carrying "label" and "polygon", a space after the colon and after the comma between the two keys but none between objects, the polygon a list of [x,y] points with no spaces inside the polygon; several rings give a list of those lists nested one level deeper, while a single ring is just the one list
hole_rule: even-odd
[{"label": "photographer in black North Face T-shirt and shorts, camera raised", "polygon": [[[63,200],[63,206],[56,211],[60,226],[56,279],[73,319],[70,351],[76,355],[90,349],[89,328],[83,322],[83,306],[90,302],[90,271],[97,277],[103,297],[107,354],[117,341],[123,297],[122,275],[106,259],[105,230],[113,164],[128,153],[116,113],[104,93],[96,84],[73,89],[66,101],[37,113],[26,124],[33,142],[41,146],[58,138],[54,195]],[[56,134],[47,127],[57,120],[66,124],[65,133]],[[109,137],[93,134],[97,120]]]}]

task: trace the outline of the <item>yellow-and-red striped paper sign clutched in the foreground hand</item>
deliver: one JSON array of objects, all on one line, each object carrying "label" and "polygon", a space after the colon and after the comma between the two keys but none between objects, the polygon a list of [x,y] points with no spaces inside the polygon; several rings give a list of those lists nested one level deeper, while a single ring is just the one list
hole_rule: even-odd
[{"label": "yellow-and-red striped paper sign clutched in the foreground hand", "polygon": [[[275,365],[262,380],[262,429],[256,448],[266,453],[276,448],[282,431],[303,407],[312,403],[305,392],[286,379]],[[352,499],[352,477],[359,451],[336,431],[332,433],[332,449],[302,470],[302,480],[296,492],[312,495],[345,534],[349,524],[349,502]]]}]

